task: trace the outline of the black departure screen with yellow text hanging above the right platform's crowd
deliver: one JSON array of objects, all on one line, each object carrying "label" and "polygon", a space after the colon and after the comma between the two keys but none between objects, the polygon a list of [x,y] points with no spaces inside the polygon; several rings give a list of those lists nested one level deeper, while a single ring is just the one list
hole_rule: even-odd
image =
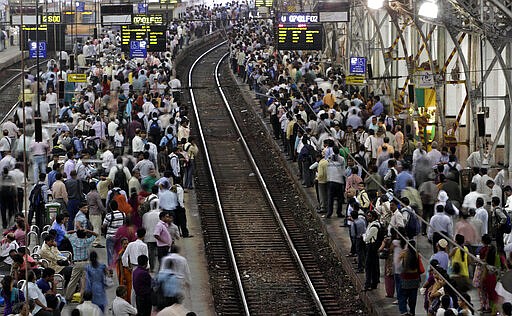
[{"label": "black departure screen with yellow text hanging above the right platform's crowd", "polygon": [[279,50],[322,50],[321,23],[279,23],[277,48]]}]

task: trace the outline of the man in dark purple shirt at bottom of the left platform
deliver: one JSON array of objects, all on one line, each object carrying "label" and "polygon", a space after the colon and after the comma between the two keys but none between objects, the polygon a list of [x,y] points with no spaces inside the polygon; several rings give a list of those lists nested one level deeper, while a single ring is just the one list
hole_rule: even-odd
[{"label": "man in dark purple shirt at bottom of the left platform", "polygon": [[147,269],[148,257],[145,255],[137,258],[137,268],[133,271],[133,290],[139,316],[151,315],[151,275]]}]

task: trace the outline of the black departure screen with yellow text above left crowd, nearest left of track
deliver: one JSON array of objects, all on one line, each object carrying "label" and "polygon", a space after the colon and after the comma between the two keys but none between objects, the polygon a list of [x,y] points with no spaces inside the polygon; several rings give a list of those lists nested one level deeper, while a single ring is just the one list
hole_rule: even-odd
[{"label": "black departure screen with yellow text above left crowd, nearest left of track", "polygon": [[122,25],[121,49],[130,51],[130,41],[146,41],[148,52],[164,52],[166,30],[161,25]]}]

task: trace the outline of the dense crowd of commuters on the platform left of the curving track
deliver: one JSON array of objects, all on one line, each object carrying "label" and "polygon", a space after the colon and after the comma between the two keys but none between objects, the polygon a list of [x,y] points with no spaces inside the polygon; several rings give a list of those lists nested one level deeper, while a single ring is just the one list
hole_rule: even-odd
[{"label": "dense crowd of commuters on the platform left of the curving track", "polygon": [[146,58],[125,58],[116,31],[87,38],[73,48],[85,83],[67,80],[67,52],[25,74],[24,102],[1,126],[4,315],[194,315],[177,243],[193,237],[184,199],[199,148],[174,59],[248,14],[245,4],[189,7],[169,24],[167,52]]}]

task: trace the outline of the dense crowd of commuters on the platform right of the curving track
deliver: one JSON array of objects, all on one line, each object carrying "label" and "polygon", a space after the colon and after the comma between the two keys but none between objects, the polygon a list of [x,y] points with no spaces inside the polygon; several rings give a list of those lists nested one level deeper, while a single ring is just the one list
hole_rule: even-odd
[{"label": "dense crowd of commuters on the platform right of the curving track", "polygon": [[[321,53],[273,45],[270,21],[236,24],[232,71],[254,91],[302,185],[314,187],[317,212],[342,219],[364,290],[383,279],[401,315],[415,315],[419,295],[428,315],[510,315],[512,188],[488,148],[459,161],[456,147],[422,142],[383,91],[346,85]],[[433,255],[422,258],[416,243],[425,239]]]}]

